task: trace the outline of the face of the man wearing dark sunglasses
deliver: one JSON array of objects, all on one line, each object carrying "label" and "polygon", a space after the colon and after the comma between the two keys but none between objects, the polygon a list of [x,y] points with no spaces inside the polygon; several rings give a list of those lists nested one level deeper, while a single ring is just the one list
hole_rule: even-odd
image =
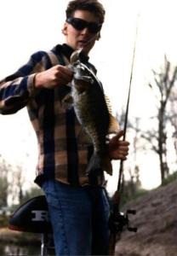
[{"label": "face of the man wearing dark sunglasses", "polygon": [[[99,24],[98,18],[85,10],[77,10],[74,13],[73,18]],[[100,32],[90,32],[88,27],[84,27],[82,30],[77,30],[68,22],[64,25],[63,33],[66,36],[66,44],[70,45],[72,49],[83,48],[86,55],[88,55],[90,49],[93,48],[95,40],[100,38]]]}]

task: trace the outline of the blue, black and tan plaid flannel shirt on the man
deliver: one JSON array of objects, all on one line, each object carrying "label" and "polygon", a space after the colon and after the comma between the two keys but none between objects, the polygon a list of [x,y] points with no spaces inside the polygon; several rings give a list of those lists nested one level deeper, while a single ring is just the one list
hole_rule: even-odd
[{"label": "blue, black and tan plaid flannel shirt on the man", "polygon": [[[34,86],[37,73],[57,64],[67,64],[65,52],[68,46],[64,48],[64,45],[58,44],[49,52],[37,51],[26,65],[0,82],[0,113],[15,113],[26,107],[36,131],[38,161],[35,182],[39,185],[49,178],[72,185],[89,183],[86,167],[93,146],[78,143],[77,138],[83,129],[74,109],[62,105],[62,98],[70,88],[63,85],[54,89],[37,89]],[[93,67],[89,62],[87,65]],[[94,177],[94,183],[101,185],[103,182],[103,172],[100,172],[99,177]]]}]

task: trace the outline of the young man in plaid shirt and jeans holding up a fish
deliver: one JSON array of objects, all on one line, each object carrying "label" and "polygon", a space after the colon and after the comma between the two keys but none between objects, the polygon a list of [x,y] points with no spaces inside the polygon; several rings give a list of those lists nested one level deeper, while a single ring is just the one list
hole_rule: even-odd
[{"label": "young man in plaid shirt and jeans holding up a fish", "polygon": [[[65,44],[49,52],[38,51],[30,61],[3,79],[0,84],[0,112],[15,113],[27,107],[37,134],[39,157],[37,178],[49,204],[57,255],[107,255],[109,203],[102,176],[89,183],[85,170],[93,148],[82,148],[77,142],[81,130],[73,108],[67,109],[62,99],[70,92],[66,84],[73,73],[68,69],[71,53],[83,49],[81,59],[100,38],[105,10],[97,0],[73,0],[66,9],[63,26]],[[120,138],[109,143],[109,156],[125,160],[128,142]]]}]

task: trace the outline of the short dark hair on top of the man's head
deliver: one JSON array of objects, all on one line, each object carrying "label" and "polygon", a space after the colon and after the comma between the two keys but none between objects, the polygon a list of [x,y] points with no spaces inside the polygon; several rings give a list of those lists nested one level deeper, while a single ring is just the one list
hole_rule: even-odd
[{"label": "short dark hair on top of the man's head", "polygon": [[102,24],[105,20],[105,9],[98,0],[72,0],[66,9],[66,18],[71,17],[76,10],[87,10],[99,18]]}]

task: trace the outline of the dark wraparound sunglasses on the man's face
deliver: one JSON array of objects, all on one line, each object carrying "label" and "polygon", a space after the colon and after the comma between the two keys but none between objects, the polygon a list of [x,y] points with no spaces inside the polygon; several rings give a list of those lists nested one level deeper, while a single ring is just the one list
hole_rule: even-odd
[{"label": "dark wraparound sunglasses on the man's face", "polygon": [[88,22],[86,20],[82,20],[79,18],[69,17],[66,19],[66,22],[71,24],[77,30],[83,30],[83,28],[87,27],[88,32],[97,33],[100,31],[102,24],[96,22]]}]

